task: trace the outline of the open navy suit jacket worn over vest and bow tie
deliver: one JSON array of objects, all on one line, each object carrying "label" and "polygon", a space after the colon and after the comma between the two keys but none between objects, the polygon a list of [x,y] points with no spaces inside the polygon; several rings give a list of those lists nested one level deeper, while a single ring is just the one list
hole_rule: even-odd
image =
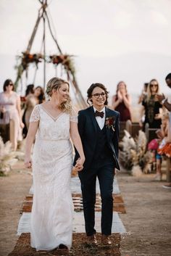
[{"label": "open navy suit jacket worn over vest and bow tie", "polygon": [[[106,129],[107,131],[107,144],[112,152],[115,162],[115,168],[120,170],[120,165],[118,162],[118,141],[119,141],[119,123],[120,123],[120,113],[114,110],[110,110],[105,107],[106,117],[114,117],[114,130],[112,128]],[[80,110],[78,112],[78,131],[80,133],[80,139],[83,144],[83,151],[86,157],[84,163],[84,169],[88,169],[91,166],[93,160],[93,154],[96,149],[97,141],[97,125],[96,117],[94,115],[93,107],[88,107],[86,110]],[[105,124],[104,124],[105,125]],[[79,154],[75,150],[75,162],[78,160]]]}]

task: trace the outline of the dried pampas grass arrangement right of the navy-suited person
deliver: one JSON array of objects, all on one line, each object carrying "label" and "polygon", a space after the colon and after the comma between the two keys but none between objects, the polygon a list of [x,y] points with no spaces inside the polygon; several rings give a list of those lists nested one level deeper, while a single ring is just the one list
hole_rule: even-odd
[{"label": "dried pampas grass arrangement right of the navy-suited person", "polygon": [[120,164],[134,176],[146,173],[151,161],[151,152],[146,151],[146,135],[143,131],[133,139],[128,131],[120,142]]}]

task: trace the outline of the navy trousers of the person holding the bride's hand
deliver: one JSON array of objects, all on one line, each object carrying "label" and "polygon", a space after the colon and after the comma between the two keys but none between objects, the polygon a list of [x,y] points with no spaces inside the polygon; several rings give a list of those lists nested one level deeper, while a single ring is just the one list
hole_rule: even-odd
[{"label": "navy trousers of the person holding the bride's hand", "polygon": [[113,216],[114,161],[111,159],[93,161],[90,169],[79,173],[79,178],[83,194],[83,211],[87,236],[96,234],[94,228],[96,178],[99,179],[101,191],[101,234],[110,235]]}]

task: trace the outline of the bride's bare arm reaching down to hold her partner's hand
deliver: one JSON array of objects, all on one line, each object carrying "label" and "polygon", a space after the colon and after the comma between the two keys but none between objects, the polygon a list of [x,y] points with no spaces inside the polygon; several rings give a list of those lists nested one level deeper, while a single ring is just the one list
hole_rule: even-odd
[{"label": "bride's bare arm reaching down to hold her partner's hand", "polygon": [[85,156],[83,152],[83,146],[80,139],[80,135],[78,133],[78,123],[70,122],[70,136],[75,148],[78,151],[78,154],[80,155],[80,158],[77,161],[77,165],[83,166],[83,163],[85,161]]}]

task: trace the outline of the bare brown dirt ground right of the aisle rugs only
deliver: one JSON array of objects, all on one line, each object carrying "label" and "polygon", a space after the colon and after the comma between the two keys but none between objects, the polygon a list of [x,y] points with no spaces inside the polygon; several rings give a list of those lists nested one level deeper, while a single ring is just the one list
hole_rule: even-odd
[{"label": "bare brown dirt ground right of the aisle rugs only", "polygon": [[171,255],[171,189],[153,178],[125,173],[117,177],[127,211],[120,215],[128,232],[122,236],[122,256]]}]

